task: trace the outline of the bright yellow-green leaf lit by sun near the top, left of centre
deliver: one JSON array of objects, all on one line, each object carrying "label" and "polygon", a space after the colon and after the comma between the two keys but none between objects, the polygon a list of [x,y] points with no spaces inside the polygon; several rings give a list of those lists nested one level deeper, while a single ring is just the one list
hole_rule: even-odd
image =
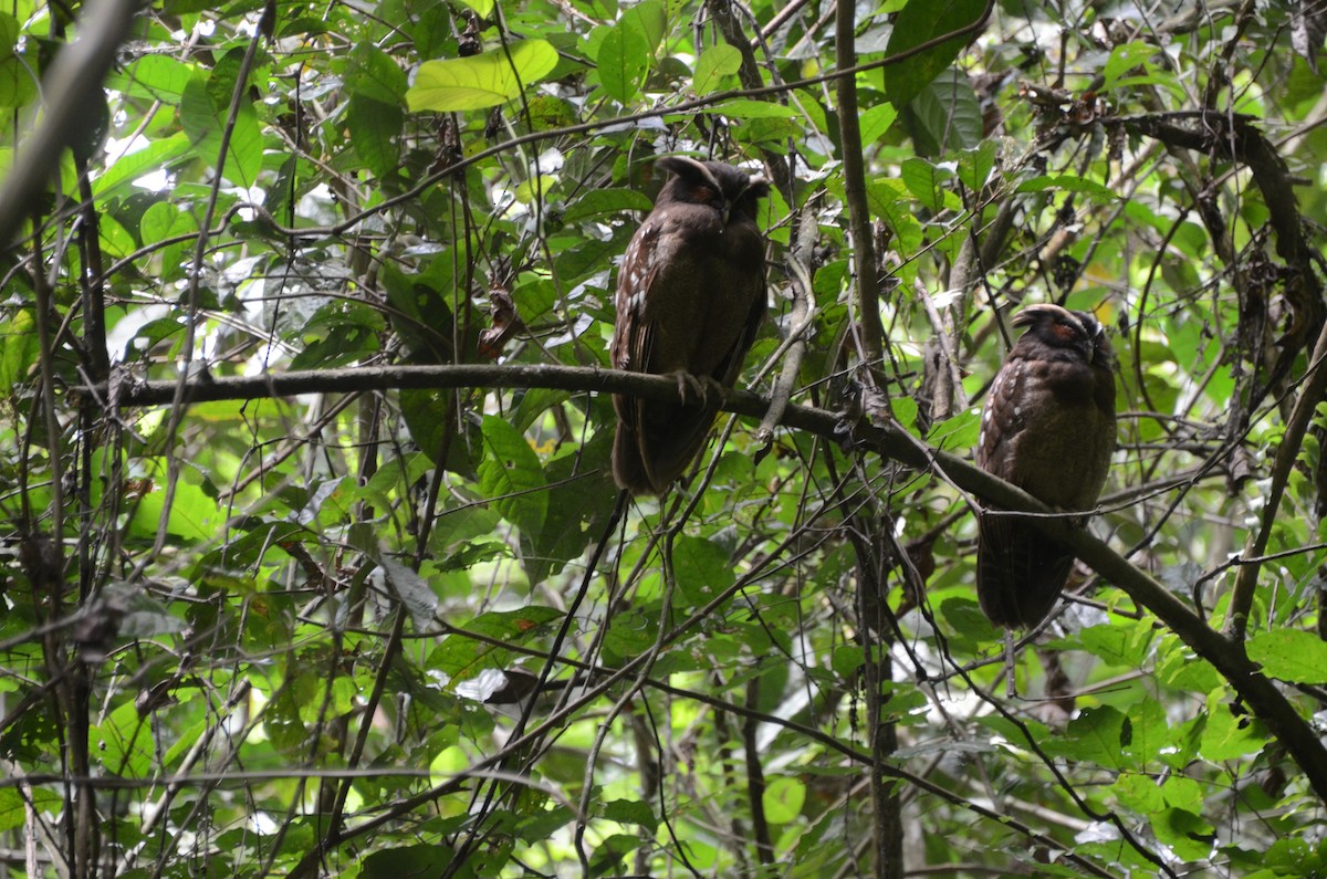
[{"label": "bright yellow-green leaf lit by sun near the top, left of centre", "polygon": [[[510,58],[508,58],[510,50]],[[544,40],[512,42],[470,58],[425,61],[406,92],[411,112],[483,110],[511,101],[557,66],[557,50]]]}]

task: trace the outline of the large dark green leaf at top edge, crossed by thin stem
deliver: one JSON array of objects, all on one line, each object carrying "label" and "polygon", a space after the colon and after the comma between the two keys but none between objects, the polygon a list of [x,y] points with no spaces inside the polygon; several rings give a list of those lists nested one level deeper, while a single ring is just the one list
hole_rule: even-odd
[{"label": "large dark green leaf at top edge, crossed by thin stem", "polygon": [[[974,25],[986,12],[985,0],[909,0],[889,35],[890,56],[918,46],[945,33]],[[921,93],[958,57],[977,32],[946,40],[898,64],[885,68],[885,96],[901,108]]]}]

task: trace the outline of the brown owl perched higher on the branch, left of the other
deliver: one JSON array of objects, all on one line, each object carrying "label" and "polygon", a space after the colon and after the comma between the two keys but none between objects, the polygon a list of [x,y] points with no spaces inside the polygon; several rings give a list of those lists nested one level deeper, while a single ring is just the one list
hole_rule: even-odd
[{"label": "brown owl perched higher on the branch, left of the other", "polygon": [[682,155],[656,167],[673,178],[617,275],[613,366],[677,374],[686,402],[613,396],[613,478],[632,494],[662,493],[705,445],[766,311],[755,216],[768,182]]}]

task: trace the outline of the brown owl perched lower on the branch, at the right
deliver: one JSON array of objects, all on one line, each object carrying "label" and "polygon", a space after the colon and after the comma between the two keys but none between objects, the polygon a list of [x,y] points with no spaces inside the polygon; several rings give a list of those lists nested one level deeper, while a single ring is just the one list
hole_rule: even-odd
[{"label": "brown owl perched lower on the branch, at the right", "polygon": [[[1096,317],[1028,305],[1027,332],[991,384],[977,466],[1050,507],[1091,510],[1115,451],[1115,355]],[[1031,628],[1064,588],[1074,551],[1030,519],[978,517],[977,598],[997,625]]]}]

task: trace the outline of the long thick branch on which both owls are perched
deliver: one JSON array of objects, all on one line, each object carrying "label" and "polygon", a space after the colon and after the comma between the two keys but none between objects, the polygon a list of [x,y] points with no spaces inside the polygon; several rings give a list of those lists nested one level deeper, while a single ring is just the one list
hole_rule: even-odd
[{"label": "long thick branch on which both owls are perched", "polygon": [[[113,380],[111,385],[115,384]],[[617,369],[548,365],[377,366],[194,380],[187,382],[183,398],[187,402],[203,402],[301,393],[464,386],[626,393],[657,401],[678,398],[677,381],[671,377]],[[109,401],[113,406],[163,405],[171,402],[175,389],[175,381],[121,382],[110,393]],[[107,400],[105,385],[85,390]],[[727,412],[756,420],[767,408],[768,401],[744,390],[731,393],[723,404]],[[790,405],[784,412],[783,424],[833,442],[843,440],[841,416],[824,409]],[[961,490],[995,507],[1042,517],[1036,522],[1043,530],[1072,546],[1088,567],[1152,611],[1194,653],[1221,672],[1239,698],[1285,744],[1318,795],[1327,801],[1327,749],[1286,696],[1247,657],[1242,643],[1212,629],[1184,601],[1089,531],[1070,527],[1063,515],[1055,514],[1013,485],[978,470],[970,462],[947,451],[932,449],[893,425],[857,422],[852,425],[852,441],[859,447],[874,450],[905,466],[937,473]]]}]

